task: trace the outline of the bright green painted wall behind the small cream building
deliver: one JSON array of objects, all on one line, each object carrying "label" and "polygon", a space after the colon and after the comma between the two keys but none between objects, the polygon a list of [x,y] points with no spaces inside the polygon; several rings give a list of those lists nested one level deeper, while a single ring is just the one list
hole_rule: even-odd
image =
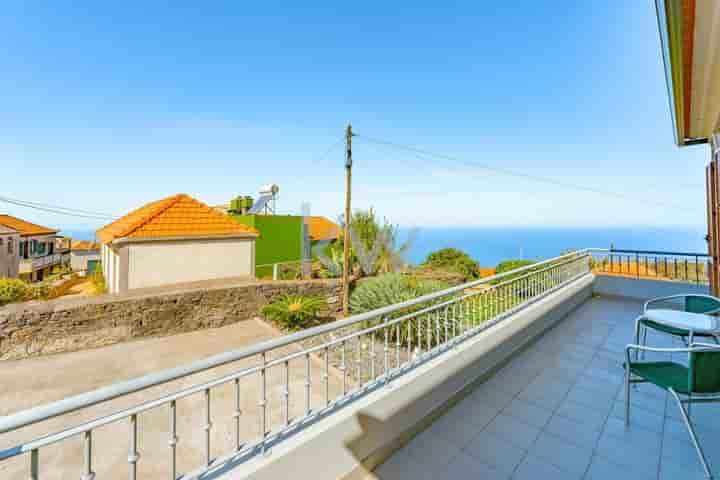
[{"label": "bright green painted wall behind the small cream building", "polygon": [[[255,265],[289,262],[302,258],[303,217],[294,215],[230,215],[260,232],[255,241]],[[272,275],[272,267],[256,268],[255,275]]]}]

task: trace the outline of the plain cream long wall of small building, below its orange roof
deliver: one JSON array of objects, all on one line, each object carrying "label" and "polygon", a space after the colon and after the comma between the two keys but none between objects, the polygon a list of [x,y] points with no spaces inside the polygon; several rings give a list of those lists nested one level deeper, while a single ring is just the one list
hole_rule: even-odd
[{"label": "plain cream long wall of small building, below its orange roof", "polygon": [[128,249],[127,289],[252,277],[254,244],[249,238],[130,243],[124,247]]}]

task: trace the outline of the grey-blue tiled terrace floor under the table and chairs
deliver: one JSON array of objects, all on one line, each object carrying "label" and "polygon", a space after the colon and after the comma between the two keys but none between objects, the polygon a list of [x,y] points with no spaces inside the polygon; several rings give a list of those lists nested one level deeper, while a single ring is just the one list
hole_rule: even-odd
[{"label": "grey-blue tiled terrace floor under the table and chairs", "polygon": [[[623,421],[624,347],[637,302],[593,298],[396,452],[382,480],[695,479],[702,467],[677,405],[651,385],[633,390]],[[648,344],[672,340],[649,334]],[[720,405],[692,419],[720,475]]]}]

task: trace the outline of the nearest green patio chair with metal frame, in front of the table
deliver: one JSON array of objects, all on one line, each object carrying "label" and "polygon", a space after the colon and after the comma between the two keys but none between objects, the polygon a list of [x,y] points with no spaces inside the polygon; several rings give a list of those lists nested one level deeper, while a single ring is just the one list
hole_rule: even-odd
[{"label": "nearest green patio chair with metal frame, in front of the table", "polygon": [[[686,353],[688,366],[670,361],[632,361],[631,351]],[[655,348],[628,345],[625,348],[625,426],[630,425],[630,384],[652,383],[675,399],[707,478],[713,478],[705,454],[690,420],[693,403],[720,401],[720,345],[692,343],[688,348]],[[681,399],[680,395],[686,397]],[[683,406],[687,404],[687,410]]]}]

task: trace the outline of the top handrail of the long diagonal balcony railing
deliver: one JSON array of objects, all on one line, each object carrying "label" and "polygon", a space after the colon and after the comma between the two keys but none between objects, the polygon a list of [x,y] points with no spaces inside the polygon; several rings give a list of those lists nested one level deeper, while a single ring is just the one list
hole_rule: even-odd
[{"label": "top handrail of the long diagonal balcony railing", "polygon": [[533,263],[531,265],[526,265],[524,267],[520,267],[514,270],[509,270],[507,272],[492,275],[490,277],[481,278],[479,280],[474,280],[472,282],[464,283],[462,285],[457,285],[455,287],[450,287],[444,290],[432,292],[427,295],[407,300],[405,302],[388,305],[386,307],[378,308],[357,315],[352,315],[341,320],[336,320],[334,322],[319,325],[317,327],[302,330],[300,332],[259,342],[250,347],[220,353],[218,355],[213,355],[207,358],[196,360],[186,365],[161,370],[159,372],[149,373],[141,377],[125,380],[123,382],[117,382],[96,390],[92,390],[90,392],[85,392],[79,395],[51,402],[49,404],[23,410],[12,415],[0,417],[0,434],[17,430],[19,428],[23,428],[44,420],[48,420],[59,415],[64,415],[83,408],[91,407],[93,405],[97,405],[99,403],[113,400],[118,397],[145,390],[147,388],[179,380],[181,378],[201,373],[212,368],[220,367],[228,363],[237,362],[252,357],[254,355],[258,355],[271,350],[276,350],[278,348],[282,348],[284,346],[297,343],[311,337],[329,333],[334,330],[345,328],[374,318],[384,317],[392,313],[413,307],[415,305],[436,300],[438,298],[442,298],[453,293],[462,292],[468,288],[473,288],[479,285],[491,283],[499,279],[509,277],[511,275],[517,275],[518,273],[534,270],[543,265],[558,262],[562,259],[586,255],[591,251],[603,250],[604,249],[583,249],[575,252],[570,252],[564,255],[560,255],[558,257]]}]

